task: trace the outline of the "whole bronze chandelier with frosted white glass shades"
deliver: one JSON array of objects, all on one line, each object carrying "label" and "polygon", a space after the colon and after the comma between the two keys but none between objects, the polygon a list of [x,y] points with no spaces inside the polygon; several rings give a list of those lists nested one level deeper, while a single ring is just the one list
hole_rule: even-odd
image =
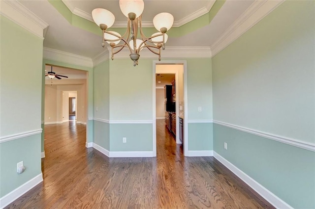
[{"label": "whole bronze chandelier with frosted white glass shades", "polygon": [[[106,9],[96,8],[92,11],[92,17],[97,26],[102,32],[102,47],[107,42],[112,48],[112,60],[114,54],[122,51],[127,47],[130,51],[130,58],[133,60],[133,66],[138,65],[140,57],[139,52],[143,48],[148,48],[151,52],[158,55],[158,60],[161,60],[161,48],[165,49],[167,41],[166,32],[173,26],[174,17],[170,13],[162,12],[153,18],[153,25],[158,32],[146,37],[142,31],[142,12],[144,9],[143,0],[119,0],[119,6],[123,14],[127,17],[127,30],[122,36],[116,31],[107,31],[113,26],[115,16]],[[138,27],[141,39],[138,39]],[[122,44],[120,44],[122,42]]]}]

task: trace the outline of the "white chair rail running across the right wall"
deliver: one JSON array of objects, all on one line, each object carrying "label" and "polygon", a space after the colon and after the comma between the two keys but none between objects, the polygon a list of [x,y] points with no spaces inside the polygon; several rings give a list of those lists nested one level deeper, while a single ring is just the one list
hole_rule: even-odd
[{"label": "white chair rail running across the right wall", "polygon": [[315,152],[315,144],[214,120],[213,123]]}]

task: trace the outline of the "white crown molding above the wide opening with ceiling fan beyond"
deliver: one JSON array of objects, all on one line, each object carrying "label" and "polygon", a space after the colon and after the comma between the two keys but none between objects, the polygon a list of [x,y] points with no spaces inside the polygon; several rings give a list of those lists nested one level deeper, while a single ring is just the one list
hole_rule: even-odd
[{"label": "white crown molding above the wide opening with ceiling fan beyond", "polygon": [[93,61],[90,57],[54,50],[47,47],[44,47],[43,49],[43,58],[61,61],[68,64],[80,65],[91,68],[93,67]]}]

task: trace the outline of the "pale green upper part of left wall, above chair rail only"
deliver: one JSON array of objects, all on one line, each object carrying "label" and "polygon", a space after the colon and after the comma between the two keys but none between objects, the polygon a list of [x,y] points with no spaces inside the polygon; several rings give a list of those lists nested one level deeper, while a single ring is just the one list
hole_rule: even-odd
[{"label": "pale green upper part of left wall, above chair rail only", "polygon": [[0,135],[41,129],[43,40],[0,17]]}]

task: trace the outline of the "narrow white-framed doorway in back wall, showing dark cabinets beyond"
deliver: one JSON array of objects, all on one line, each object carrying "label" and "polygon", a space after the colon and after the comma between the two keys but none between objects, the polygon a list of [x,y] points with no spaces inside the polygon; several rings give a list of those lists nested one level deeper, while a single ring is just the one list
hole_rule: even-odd
[{"label": "narrow white-framed doorway in back wall, showing dark cabinets beyond", "polygon": [[[154,120],[153,120],[153,152],[156,156],[157,150],[157,124],[160,124],[160,119],[164,119],[166,130],[172,133],[175,137],[176,144],[183,144],[183,151],[188,154],[188,150],[185,151],[185,127],[187,124],[183,123],[186,103],[185,92],[185,69],[186,62],[167,62],[167,63],[154,63]],[[166,81],[169,83],[163,83],[164,78],[169,78]],[[166,80],[166,79],[165,79]],[[159,82],[160,81],[160,82]],[[160,90],[159,90],[160,89]],[[160,102],[160,92],[163,92],[163,102]],[[164,116],[161,116],[161,108],[163,107]],[[182,123],[181,123],[182,120]],[[182,126],[180,126],[182,124]],[[180,128],[182,127],[182,129]],[[160,129],[159,129],[160,130]],[[180,132],[183,131],[183,132]],[[187,128],[186,128],[187,131]],[[187,145],[187,144],[186,144]],[[187,147],[187,146],[186,146]]]}]

